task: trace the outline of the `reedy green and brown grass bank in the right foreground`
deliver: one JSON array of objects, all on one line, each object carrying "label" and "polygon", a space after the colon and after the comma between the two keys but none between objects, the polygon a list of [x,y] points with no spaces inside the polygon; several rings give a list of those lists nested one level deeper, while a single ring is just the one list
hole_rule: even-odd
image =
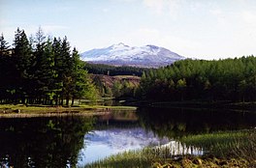
[{"label": "reedy green and brown grass bank in the right foreground", "polygon": [[180,139],[181,143],[201,147],[203,155],[171,156],[168,147],[146,148],[115,154],[85,167],[254,167],[256,132],[216,132]]}]

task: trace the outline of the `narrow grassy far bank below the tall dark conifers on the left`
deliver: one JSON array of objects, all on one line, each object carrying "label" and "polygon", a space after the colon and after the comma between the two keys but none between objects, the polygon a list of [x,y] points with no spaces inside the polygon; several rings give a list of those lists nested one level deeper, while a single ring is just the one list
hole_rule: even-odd
[{"label": "narrow grassy far bank below the tall dark conifers on the left", "polygon": [[136,110],[134,106],[78,105],[72,107],[49,105],[1,104],[0,117],[37,117],[62,114],[100,114],[118,110]]}]

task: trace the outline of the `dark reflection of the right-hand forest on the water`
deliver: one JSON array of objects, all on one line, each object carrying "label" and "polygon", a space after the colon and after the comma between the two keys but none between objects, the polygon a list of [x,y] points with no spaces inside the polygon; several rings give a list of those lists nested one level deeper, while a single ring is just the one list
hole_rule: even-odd
[{"label": "dark reflection of the right-hand forest on the water", "polygon": [[141,108],[138,110],[138,117],[146,130],[152,130],[160,137],[170,138],[256,126],[255,113],[229,110]]}]

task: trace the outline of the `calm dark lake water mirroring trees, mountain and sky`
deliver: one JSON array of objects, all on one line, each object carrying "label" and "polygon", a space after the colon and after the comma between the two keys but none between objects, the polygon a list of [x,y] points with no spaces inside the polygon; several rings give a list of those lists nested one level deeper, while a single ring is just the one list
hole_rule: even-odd
[{"label": "calm dark lake water mirroring trees, mountain and sky", "polygon": [[[256,126],[256,113],[144,108],[103,116],[0,119],[0,167],[76,167],[154,146],[180,149],[178,137]],[[177,148],[179,147],[179,148]],[[200,149],[191,149],[202,154]]]}]

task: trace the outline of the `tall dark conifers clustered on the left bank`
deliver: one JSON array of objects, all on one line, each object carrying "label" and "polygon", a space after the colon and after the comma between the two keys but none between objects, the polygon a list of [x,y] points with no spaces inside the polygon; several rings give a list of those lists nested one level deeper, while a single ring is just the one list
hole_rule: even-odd
[{"label": "tall dark conifers clustered on the left bank", "polygon": [[50,38],[41,28],[27,38],[16,29],[13,47],[0,37],[0,102],[72,105],[95,98],[96,89],[67,37]]}]

